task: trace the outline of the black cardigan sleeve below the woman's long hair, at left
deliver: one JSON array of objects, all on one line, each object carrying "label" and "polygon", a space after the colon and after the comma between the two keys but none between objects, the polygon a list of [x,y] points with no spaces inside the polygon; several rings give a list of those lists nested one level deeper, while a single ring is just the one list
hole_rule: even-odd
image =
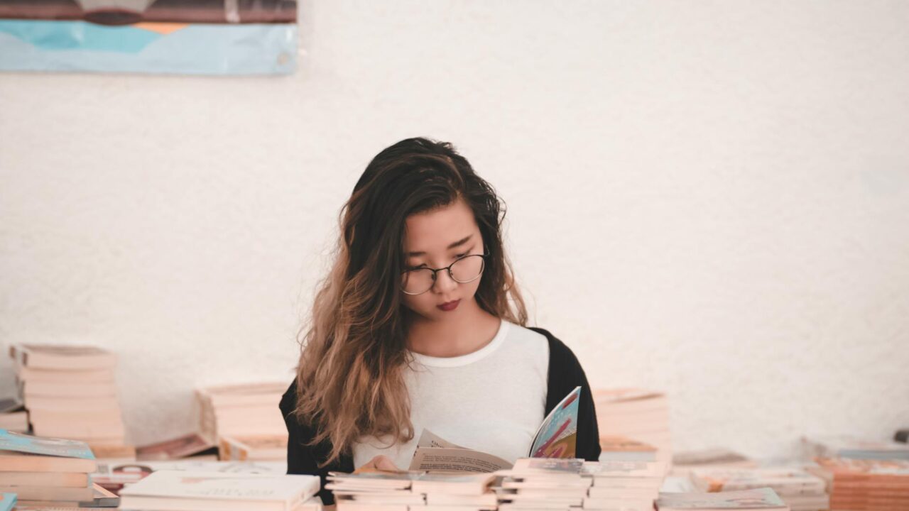
[{"label": "black cardigan sleeve below the woman's long hair, at left", "polygon": [[352,456],[343,456],[340,461],[327,466],[319,467],[331,452],[331,445],[323,442],[318,446],[309,446],[315,433],[312,427],[302,424],[294,415],[296,408],[296,380],[287,388],[281,397],[281,415],[287,425],[287,474],[306,474],[319,476],[322,479],[322,489],[319,496],[327,506],[335,504],[335,496],[325,489],[325,477],[329,471],[353,472],[354,459]]}]

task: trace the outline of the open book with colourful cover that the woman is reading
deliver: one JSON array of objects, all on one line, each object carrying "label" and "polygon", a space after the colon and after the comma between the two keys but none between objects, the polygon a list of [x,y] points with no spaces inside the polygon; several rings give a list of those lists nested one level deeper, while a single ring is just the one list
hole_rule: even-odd
[{"label": "open book with colourful cover that the woman is reading", "polygon": [[[581,387],[574,387],[553,408],[536,430],[528,457],[574,457],[577,444],[577,410]],[[456,446],[424,429],[417,441],[410,470],[425,472],[495,472],[512,467],[512,463],[474,449]]]}]

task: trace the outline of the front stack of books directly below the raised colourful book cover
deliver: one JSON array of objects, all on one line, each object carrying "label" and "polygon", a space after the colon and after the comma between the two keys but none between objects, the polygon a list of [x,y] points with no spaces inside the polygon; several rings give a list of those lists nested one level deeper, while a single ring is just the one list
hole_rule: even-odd
[{"label": "front stack of books directly below the raised colourful book cover", "polygon": [[520,458],[502,476],[495,493],[499,509],[568,509],[580,507],[593,482],[584,476],[584,460]]}]

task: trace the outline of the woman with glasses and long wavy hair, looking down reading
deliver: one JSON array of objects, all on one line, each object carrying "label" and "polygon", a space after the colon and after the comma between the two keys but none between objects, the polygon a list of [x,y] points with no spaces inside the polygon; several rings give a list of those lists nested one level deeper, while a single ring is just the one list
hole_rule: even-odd
[{"label": "woman with glasses and long wavy hair, looking down reading", "polygon": [[325,485],[329,470],[407,468],[424,430],[514,461],[575,386],[576,456],[597,459],[584,370],[549,332],[525,327],[503,218],[450,144],[411,138],[375,156],[342,210],[335,265],[281,401],[288,473]]}]

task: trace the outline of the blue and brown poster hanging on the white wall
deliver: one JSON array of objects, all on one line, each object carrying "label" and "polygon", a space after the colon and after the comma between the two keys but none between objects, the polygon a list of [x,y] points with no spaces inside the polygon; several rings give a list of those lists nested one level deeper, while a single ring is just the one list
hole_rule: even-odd
[{"label": "blue and brown poster hanging on the white wall", "polygon": [[286,75],[295,0],[0,0],[0,71]]}]

